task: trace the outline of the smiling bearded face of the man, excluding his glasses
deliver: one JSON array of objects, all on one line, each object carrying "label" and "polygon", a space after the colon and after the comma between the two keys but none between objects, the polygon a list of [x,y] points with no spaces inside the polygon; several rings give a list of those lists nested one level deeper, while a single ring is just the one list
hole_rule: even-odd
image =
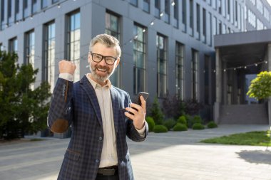
[{"label": "smiling bearded face of the man, excluding his glasses", "polygon": [[[103,56],[118,57],[116,48],[108,47],[103,43],[96,43],[91,48],[92,53],[101,54]],[[120,58],[118,58],[113,65],[106,64],[103,58],[101,62],[96,63],[92,60],[91,53],[88,53],[88,63],[91,66],[91,78],[100,85],[106,85],[106,80],[114,73],[115,68],[118,66]]]}]

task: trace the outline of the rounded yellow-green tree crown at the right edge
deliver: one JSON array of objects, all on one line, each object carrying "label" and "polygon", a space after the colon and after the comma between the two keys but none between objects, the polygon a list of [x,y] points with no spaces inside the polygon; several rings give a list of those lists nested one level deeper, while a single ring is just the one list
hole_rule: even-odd
[{"label": "rounded yellow-green tree crown at the right edge", "polygon": [[256,100],[267,99],[271,96],[271,71],[262,71],[251,81],[247,95]]}]

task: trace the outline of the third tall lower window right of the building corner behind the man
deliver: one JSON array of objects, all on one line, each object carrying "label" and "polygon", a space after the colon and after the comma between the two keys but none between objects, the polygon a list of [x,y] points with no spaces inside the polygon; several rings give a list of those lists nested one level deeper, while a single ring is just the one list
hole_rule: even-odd
[{"label": "third tall lower window right of the building corner behind the man", "polygon": [[167,47],[166,39],[162,35],[156,36],[157,48],[157,94],[165,97],[167,85]]}]

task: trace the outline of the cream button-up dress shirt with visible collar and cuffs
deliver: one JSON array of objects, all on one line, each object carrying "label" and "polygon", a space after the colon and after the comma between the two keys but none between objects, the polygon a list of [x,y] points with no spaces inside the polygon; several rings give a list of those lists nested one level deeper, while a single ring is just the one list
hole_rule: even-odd
[{"label": "cream button-up dress shirt with visible collar and cuffs", "polygon": [[[91,80],[91,78],[89,78],[89,75],[90,73],[86,74],[86,78],[88,78],[89,82],[91,83],[96,92],[103,121],[103,149],[99,167],[101,168],[106,166],[114,166],[118,164],[118,155],[116,133],[113,120],[113,107],[110,93],[110,88],[112,85],[110,80],[108,80],[106,85],[101,86],[94,80]],[[73,81],[73,75],[68,73],[60,73],[59,78]],[[145,136],[145,124],[143,129],[136,130],[138,131],[140,136]]]}]

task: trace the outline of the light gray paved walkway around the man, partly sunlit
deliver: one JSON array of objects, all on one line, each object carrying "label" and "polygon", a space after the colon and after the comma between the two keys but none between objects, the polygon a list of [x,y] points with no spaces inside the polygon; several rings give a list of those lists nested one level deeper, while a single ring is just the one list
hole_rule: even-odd
[{"label": "light gray paved walkway around the man, partly sunlit", "polygon": [[[271,147],[203,144],[200,139],[267,130],[267,125],[150,133],[129,141],[136,180],[271,180]],[[1,180],[55,180],[69,139],[0,144]]]}]

